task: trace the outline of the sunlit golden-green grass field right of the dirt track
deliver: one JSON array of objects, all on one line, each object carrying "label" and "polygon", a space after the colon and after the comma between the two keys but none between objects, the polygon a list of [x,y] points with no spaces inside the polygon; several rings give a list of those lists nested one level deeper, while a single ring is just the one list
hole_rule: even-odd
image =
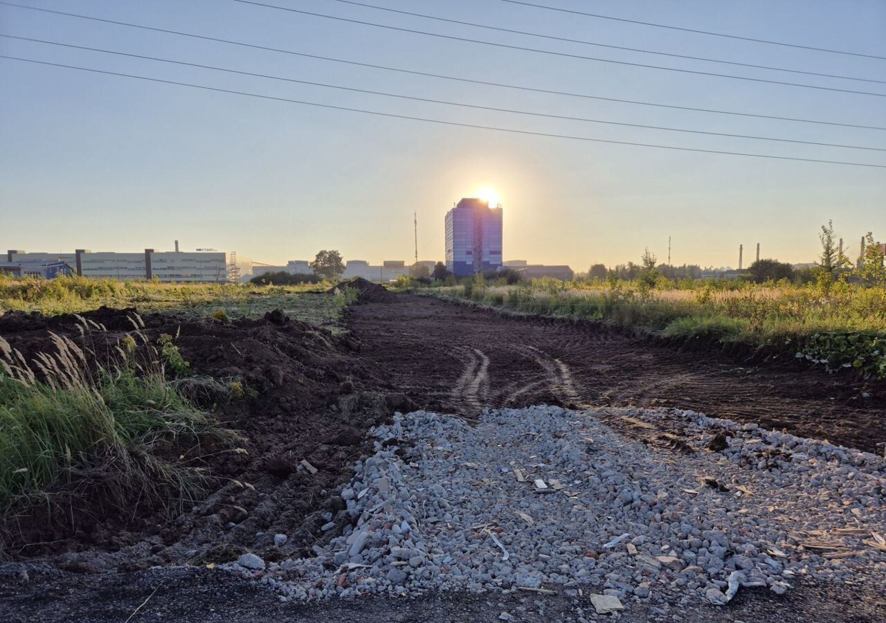
[{"label": "sunlit golden-green grass field right of the dirt track", "polygon": [[[420,291],[423,292],[423,291]],[[830,370],[854,368],[886,377],[886,287],[698,281],[663,290],[637,282],[482,283],[424,292],[495,308],[599,320],[675,339],[706,338],[790,354]]]}]

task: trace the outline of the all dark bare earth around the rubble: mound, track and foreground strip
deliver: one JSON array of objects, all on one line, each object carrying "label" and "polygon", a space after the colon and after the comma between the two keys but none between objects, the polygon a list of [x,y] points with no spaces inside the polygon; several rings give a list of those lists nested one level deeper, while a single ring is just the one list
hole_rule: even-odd
[{"label": "all dark bare earth around the rubble: mound, track and foreground strip", "polygon": [[[0,565],[0,619],[120,621],[136,612],[133,621],[448,621],[499,620],[502,611],[517,620],[581,620],[577,612],[595,619],[587,597],[579,604],[560,591],[283,604],[259,583],[206,569],[245,551],[268,562],[306,556],[341,534],[343,526],[320,529],[343,506],[335,492],[353,477],[354,461],[371,455],[369,429],[394,411],[472,420],[484,406],[634,405],[692,409],[868,452],[882,452],[877,444],[886,440],[882,383],[713,345],[677,347],[595,323],[498,315],[428,297],[367,299],[348,310],[350,331],[339,336],[278,312],[235,323],[144,316],[151,339],[177,336],[200,378],[222,385],[241,379],[252,390],[221,400],[212,383],[185,388],[244,437],[248,454],[204,459],[214,493],[172,521],[151,509],[74,524],[19,518],[18,532],[4,537],[12,562]],[[133,330],[132,312],[87,316],[113,340]],[[49,347],[47,331],[76,339],[78,323],[74,316],[7,314],[0,335],[34,354]],[[703,449],[691,446],[679,418],[650,427],[611,412],[605,424],[674,460]],[[302,459],[316,473],[299,468]],[[275,544],[275,534],[288,538]],[[801,580],[784,596],[742,590],[727,609],[662,613],[638,604],[620,618],[861,623],[886,620],[886,600],[863,584]]]}]

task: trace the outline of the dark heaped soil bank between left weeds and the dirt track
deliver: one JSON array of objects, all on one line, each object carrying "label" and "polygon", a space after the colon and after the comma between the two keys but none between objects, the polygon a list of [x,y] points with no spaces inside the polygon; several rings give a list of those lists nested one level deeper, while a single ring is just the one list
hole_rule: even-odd
[{"label": "dark heaped soil bank between left weeds and the dirt track", "polygon": [[[133,312],[103,308],[82,315],[106,329],[87,335],[102,346],[97,353],[113,351],[102,340],[110,346],[135,329]],[[151,342],[161,334],[175,337],[194,374],[179,381],[179,391],[242,435],[246,453],[193,448],[187,464],[206,468],[214,493],[172,521],[137,505],[128,517],[100,511],[49,517],[32,509],[7,518],[0,551],[12,557],[67,552],[66,563],[98,570],[223,561],[246,549],[268,560],[307,551],[318,542],[315,533],[323,534],[323,512],[341,502],[326,492],[349,478],[347,465],[361,455],[366,430],[391,412],[381,375],[356,355],[359,342],[279,310],[233,323],[168,314],[141,320]],[[51,349],[49,331],[79,343],[81,325],[74,315],[9,314],[0,317],[0,335],[32,358]],[[275,545],[278,533],[288,537],[284,545]],[[89,553],[72,553],[84,549]]]}]

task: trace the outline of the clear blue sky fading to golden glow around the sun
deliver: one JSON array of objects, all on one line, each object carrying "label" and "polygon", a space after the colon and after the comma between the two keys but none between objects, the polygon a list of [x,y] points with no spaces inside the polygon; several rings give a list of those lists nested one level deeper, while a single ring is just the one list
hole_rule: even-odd
[{"label": "clear blue sky fading to golden glow around the sun", "polygon": [[[18,0],[20,4],[471,80],[670,105],[886,127],[886,97],[684,74],[513,50],[505,43],[886,94],[858,82],[618,51],[383,12],[336,0],[261,0],[464,37],[452,41],[234,0]],[[365,0],[677,54],[886,82],[886,60],[594,19],[501,0]],[[882,0],[741,3],[534,0],[626,19],[886,56]],[[0,33],[411,97],[604,121],[886,148],[886,131],[670,110],[510,90],[201,41],[0,5]],[[318,104],[530,132],[886,165],[886,152],[703,136],[466,109],[0,38],[0,54]],[[377,263],[444,257],[462,197],[499,195],[505,260],[745,265],[813,261],[833,219],[850,255],[886,240],[886,168],[526,136],[296,105],[0,58],[0,247],[71,252],[237,251],[268,264],[338,249]]]}]

